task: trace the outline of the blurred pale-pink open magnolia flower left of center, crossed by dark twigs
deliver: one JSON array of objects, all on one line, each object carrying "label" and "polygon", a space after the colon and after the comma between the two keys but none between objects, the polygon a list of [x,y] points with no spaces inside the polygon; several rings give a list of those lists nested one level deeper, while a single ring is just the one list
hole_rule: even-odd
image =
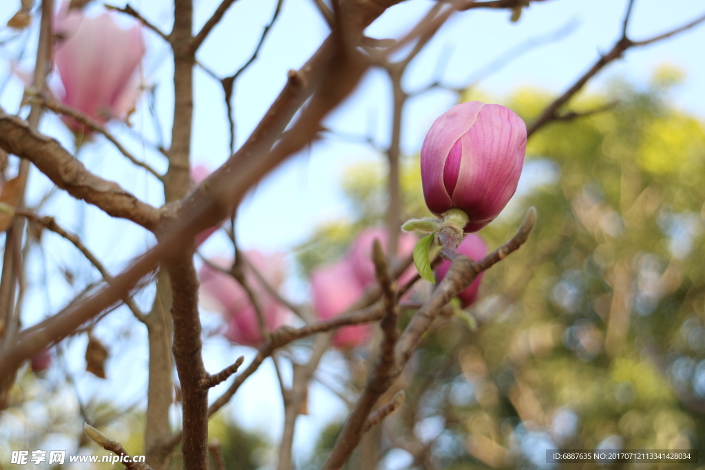
[{"label": "blurred pale-pink open magnolia flower left of center, crossed by dark twigs", "polygon": [[[255,267],[267,283],[278,290],[284,281],[283,254],[262,254],[257,251],[246,252],[247,261]],[[228,259],[216,258],[210,260],[215,266],[229,269],[232,262]],[[247,284],[254,292],[259,307],[262,309],[266,329],[271,331],[284,324],[286,310],[279,304],[264,285],[252,272],[245,267]],[[221,273],[211,266],[204,264],[199,271],[201,281],[201,303],[204,307],[219,311],[228,323],[225,337],[238,345],[259,347],[263,338],[259,330],[259,320],[255,307],[250,302],[250,297],[242,286],[232,276]]]}]

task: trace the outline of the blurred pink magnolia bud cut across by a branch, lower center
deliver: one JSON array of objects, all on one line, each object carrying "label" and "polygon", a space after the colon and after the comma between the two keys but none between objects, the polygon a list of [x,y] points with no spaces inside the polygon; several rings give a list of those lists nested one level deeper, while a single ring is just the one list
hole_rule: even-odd
[{"label": "blurred pink magnolia bud cut across by a branch, lower center", "polygon": [[[350,261],[343,258],[333,264],[319,266],[311,274],[313,303],[319,318],[329,320],[342,314],[357,299],[360,299],[364,287],[355,276]],[[344,326],[333,335],[333,345],[341,349],[350,349],[367,342],[372,331],[369,323]]]}]

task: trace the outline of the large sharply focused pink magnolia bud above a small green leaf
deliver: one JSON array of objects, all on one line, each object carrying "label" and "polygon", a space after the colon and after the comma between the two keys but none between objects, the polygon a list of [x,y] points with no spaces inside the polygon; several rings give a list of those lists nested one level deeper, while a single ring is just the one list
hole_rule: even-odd
[{"label": "large sharply focused pink magnolia bud above a small green leaf", "polygon": [[477,232],[499,215],[517,189],[527,144],[524,121],[479,101],[453,106],[431,126],[421,148],[424,199],[441,215],[462,209]]}]

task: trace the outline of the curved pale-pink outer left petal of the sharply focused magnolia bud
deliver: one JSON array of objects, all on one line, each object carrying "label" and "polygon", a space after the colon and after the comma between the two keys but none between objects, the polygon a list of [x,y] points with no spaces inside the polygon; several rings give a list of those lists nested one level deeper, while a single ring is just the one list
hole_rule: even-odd
[{"label": "curved pale-pink outer left petal of the sharply focused magnolia bud", "polygon": [[479,101],[468,101],[450,108],[431,125],[421,147],[421,174],[426,205],[440,215],[453,206],[443,183],[446,159],[455,142],[467,132],[484,106]]}]

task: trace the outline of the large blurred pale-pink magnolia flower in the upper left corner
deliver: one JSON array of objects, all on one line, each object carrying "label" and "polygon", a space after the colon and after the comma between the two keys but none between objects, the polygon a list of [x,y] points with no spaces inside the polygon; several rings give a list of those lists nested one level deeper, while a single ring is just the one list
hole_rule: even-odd
[{"label": "large blurred pale-pink magnolia flower in the upper left corner", "polygon": [[[125,118],[139,96],[137,66],[145,53],[140,25],[125,30],[113,13],[90,18],[64,1],[54,18],[54,61],[63,85],[63,104],[99,123]],[[64,123],[75,132],[82,125]]]}]

